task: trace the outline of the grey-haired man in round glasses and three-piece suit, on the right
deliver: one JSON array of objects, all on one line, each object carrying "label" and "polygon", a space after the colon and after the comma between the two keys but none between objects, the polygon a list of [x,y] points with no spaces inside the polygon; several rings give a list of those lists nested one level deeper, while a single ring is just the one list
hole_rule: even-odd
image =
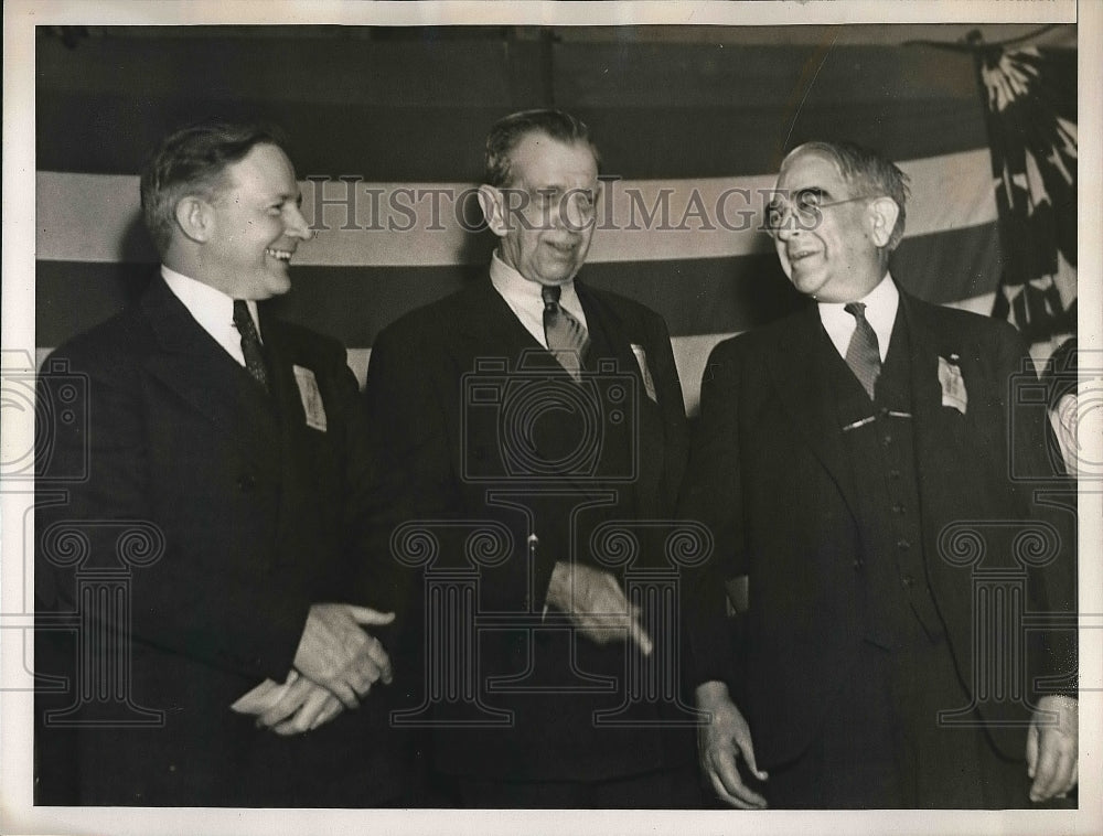
[{"label": "grey-haired man in round glasses and three-piece suit, on the right", "polygon": [[715,535],[688,630],[732,806],[1022,806],[1075,781],[1074,640],[1024,642],[1025,613],[1075,611],[1072,516],[1011,478],[1050,472],[1045,410],[1011,396],[1032,366],[1006,323],[898,288],[904,195],[864,149],[792,151],[767,223],[810,303],[705,372],[679,515]]}]

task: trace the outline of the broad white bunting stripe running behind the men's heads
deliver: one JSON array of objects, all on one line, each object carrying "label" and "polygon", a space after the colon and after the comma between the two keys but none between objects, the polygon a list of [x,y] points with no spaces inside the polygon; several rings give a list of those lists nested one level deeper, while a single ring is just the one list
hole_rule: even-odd
[{"label": "broad white bunting stripe running behind the men's heads", "polygon": [[[996,219],[986,149],[912,160],[900,168],[911,178],[908,236]],[[587,260],[667,261],[769,253],[772,245],[759,226],[773,180],[763,174],[610,181]],[[39,258],[156,260],[141,229],[137,176],[40,171],[36,185]],[[468,233],[457,215],[462,195],[473,195],[471,184],[307,181],[301,185],[303,214],[312,224],[317,214],[328,229],[299,247],[295,264],[432,267],[467,258]],[[352,208],[347,199],[354,201]],[[480,219],[473,196],[467,206],[471,226]]]}]

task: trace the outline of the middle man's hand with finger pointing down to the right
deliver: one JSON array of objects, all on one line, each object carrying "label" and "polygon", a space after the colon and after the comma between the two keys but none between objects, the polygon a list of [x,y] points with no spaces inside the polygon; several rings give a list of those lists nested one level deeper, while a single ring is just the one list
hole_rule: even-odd
[{"label": "middle man's hand with finger pointing down to the right", "polygon": [[583,635],[598,644],[628,636],[643,655],[651,637],[640,623],[640,608],[630,605],[617,579],[607,571],[559,561],[552,570],[547,602],[571,617]]}]

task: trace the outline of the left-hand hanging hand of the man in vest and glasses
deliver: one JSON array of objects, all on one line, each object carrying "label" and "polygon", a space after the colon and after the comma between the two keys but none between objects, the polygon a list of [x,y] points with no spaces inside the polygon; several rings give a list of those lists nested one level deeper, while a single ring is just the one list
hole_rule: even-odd
[{"label": "left-hand hanging hand of the man in vest and glasses", "polygon": [[728,696],[728,686],[708,682],[697,686],[697,708],[713,715],[697,729],[697,758],[720,801],[740,810],[764,810],[765,799],[748,787],[739,775],[741,757],[759,781],[769,775],[754,763],[754,746],[747,720]]}]

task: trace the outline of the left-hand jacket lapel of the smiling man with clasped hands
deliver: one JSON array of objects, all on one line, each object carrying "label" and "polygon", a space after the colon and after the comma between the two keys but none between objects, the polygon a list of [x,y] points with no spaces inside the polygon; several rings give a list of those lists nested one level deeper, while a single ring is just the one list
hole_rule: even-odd
[{"label": "left-hand jacket lapel of the smiling man with clasped hands", "polygon": [[278,420],[267,396],[157,277],[142,297],[142,308],[161,351],[146,367],[197,412],[240,442],[261,470],[279,474]]}]

